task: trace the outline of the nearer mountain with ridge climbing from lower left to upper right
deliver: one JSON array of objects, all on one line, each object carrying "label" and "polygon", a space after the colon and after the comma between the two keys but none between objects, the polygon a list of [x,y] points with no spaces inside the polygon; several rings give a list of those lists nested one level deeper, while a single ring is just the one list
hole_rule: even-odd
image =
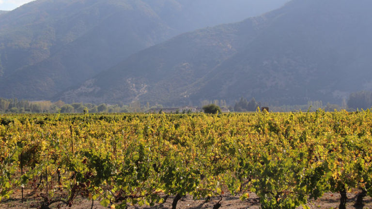
[{"label": "nearer mountain with ridge climbing from lower left to upper right", "polygon": [[293,0],[142,50],[56,98],[165,105],[242,96],[270,104],[341,102],[352,91],[372,89],[371,6],[370,0]]}]

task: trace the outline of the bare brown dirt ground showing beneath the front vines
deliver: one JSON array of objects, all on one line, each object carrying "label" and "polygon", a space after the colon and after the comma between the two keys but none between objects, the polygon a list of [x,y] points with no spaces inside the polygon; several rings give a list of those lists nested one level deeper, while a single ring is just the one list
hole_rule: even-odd
[{"label": "bare brown dirt ground showing beneath the front vines", "polygon": [[[347,209],[361,209],[361,207],[354,207],[356,201],[356,194],[349,193],[348,202],[346,205]],[[212,209],[213,206],[218,202],[219,198],[212,198],[209,202],[205,200],[193,200],[191,196],[183,197],[177,204],[177,209]],[[365,199],[364,209],[372,209],[372,198],[367,196]],[[322,198],[314,201],[309,200],[308,206],[310,209],[337,209],[340,201],[340,194],[327,193]],[[161,205],[154,207],[149,206],[131,206],[128,209],[171,209],[172,198]],[[2,201],[0,203],[0,209],[35,209],[37,208],[37,201],[34,197],[26,197],[25,202],[21,203],[20,198]],[[221,201],[220,209],[259,209],[259,199],[253,193],[249,194],[249,198],[245,201],[240,201],[238,196],[224,196]],[[91,209],[92,202],[77,198],[71,209]],[[55,203],[51,206],[52,209],[58,209],[58,204]],[[66,206],[60,206],[61,209],[69,209]],[[93,202],[93,209],[105,209],[99,204],[99,201]],[[107,208],[106,208],[107,209]],[[300,207],[299,209],[302,209]]]}]

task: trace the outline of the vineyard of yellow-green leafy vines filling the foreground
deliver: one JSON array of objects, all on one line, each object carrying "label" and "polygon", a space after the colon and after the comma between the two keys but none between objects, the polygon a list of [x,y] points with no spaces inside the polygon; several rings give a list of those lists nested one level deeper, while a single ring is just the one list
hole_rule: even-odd
[{"label": "vineyard of yellow-green leafy vines filling the foreground", "polygon": [[[295,209],[325,193],[346,208],[372,195],[372,113],[48,114],[0,116],[0,201],[34,208],[176,209],[185,196]],[[92,205],[93,206],[93,205]]]}]

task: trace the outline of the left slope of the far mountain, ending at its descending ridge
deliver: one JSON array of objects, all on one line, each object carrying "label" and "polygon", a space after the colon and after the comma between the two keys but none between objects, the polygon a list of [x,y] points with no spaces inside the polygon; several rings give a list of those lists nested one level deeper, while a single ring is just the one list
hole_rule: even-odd
[{"label": "left slope of the far mountain, ending at its descending ridge", "polygon": [[[4,28],[0,31],[1,96],[48,98],[131,53],[164,40],[172,31],[140,1],[57,3],[31,2],[18,9],[38,12],[24,18],[24,13],[16,9],[0,19],[0,27]],[[19,18],[14,17],[18,14]],[[32,16],[35,23],[27,25]],[[7,21],[7,17],[13,19]],[[130,30],[135,26],[145,31]],[[30,38],[24,38],[24,34]]]}]

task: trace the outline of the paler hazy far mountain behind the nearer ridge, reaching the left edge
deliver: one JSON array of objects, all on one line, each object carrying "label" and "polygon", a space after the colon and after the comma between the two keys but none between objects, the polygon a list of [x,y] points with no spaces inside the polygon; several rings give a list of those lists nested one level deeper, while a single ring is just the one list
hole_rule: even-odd
[{"label": "paler hazy far mountain behind the nearer ridge, reaching the left edge", "polygon": [[1,15],[0,97],[48,99],[184,31],[243,19],[285,1],[32,1]]}]

